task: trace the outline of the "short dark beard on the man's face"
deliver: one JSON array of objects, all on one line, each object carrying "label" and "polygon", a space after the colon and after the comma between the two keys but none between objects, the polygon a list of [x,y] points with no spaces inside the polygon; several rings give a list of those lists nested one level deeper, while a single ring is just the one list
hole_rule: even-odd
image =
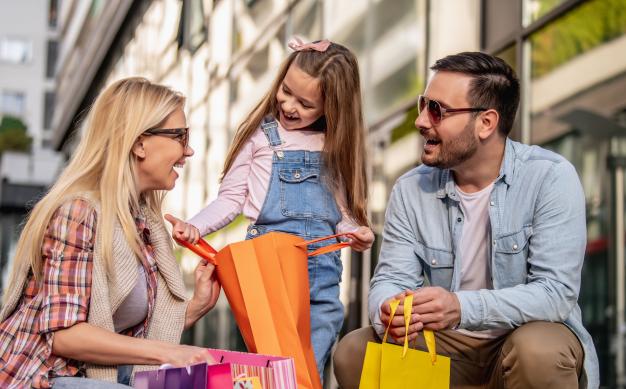
[{"label": "short dark beard on the man's face", "polygon": [[470,159],[478,150],[478,140],[474,136],[474,121],[470,120],[456,138],[441,141],[434,159],[422,152],[422,163],[440,169],[450,169]]}]

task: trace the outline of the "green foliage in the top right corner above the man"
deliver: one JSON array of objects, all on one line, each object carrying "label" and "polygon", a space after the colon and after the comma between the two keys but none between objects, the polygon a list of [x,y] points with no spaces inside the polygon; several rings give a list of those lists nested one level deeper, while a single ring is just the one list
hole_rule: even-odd
[{"label": "green foliage in the top right corner above the man", "polygon": [[626,1],[591,0],[547,25],[531,38],[532,78],[626,34]]}]

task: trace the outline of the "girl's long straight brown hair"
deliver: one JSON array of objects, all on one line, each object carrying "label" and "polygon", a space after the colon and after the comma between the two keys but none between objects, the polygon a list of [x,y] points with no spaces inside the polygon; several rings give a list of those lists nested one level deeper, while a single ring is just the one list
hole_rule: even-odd
[{"label": "girl's long straight brown hair", "polygon": [[354,54],[340,44],[331,43],[325,52],[307,50],[289,55],[269,92],[239,125],[224,163],[222,177],[230,170],[235,157],[263,118],[266,115],[278,117],[276,93],[292,64],[319,79],[326,121],[323,150],[326,172],[334,189],[345,188],[346,208],[354,220],[368,226],[365,126],[359,65]]}]

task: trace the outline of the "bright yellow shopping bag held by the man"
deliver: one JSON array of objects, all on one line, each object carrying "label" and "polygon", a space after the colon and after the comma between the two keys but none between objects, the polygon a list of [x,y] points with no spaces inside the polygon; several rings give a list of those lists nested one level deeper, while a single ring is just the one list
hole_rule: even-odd
[{"label": "bright yellow shopping bag held by the man", "polygon": [[[391,317],[400,305],[391,303]],[[413,306],[413,295],[404,299],[404,325],[408,333]],[[428,352],[409,349],[408,337],[404,345],[387,343],[391,322],[387,325],[382,344],[368,342],[361,372],[359,389],[449,389],[450,358],[437,355],[435,335],[425,330]]]}]

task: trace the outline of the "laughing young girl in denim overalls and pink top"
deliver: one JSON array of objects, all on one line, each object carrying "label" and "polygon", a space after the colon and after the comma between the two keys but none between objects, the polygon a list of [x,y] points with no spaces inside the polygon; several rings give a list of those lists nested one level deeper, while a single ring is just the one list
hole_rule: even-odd
[{"label": "laughing young girl in denim overalls and pink top", "polygon": [[[218,198],[188,224],[166,216],[174,237],[195,243],[243,211],[250,220],[246,239],[269,231],[307,240],[347,232],[353,249],[372,245],[357,60],[327,40],[295,39],[289,47],[294,52],[272,89],[239,126]],[[339,252],[309,259],[311,338],[320,376],[343,323],[341,272]]]}]

